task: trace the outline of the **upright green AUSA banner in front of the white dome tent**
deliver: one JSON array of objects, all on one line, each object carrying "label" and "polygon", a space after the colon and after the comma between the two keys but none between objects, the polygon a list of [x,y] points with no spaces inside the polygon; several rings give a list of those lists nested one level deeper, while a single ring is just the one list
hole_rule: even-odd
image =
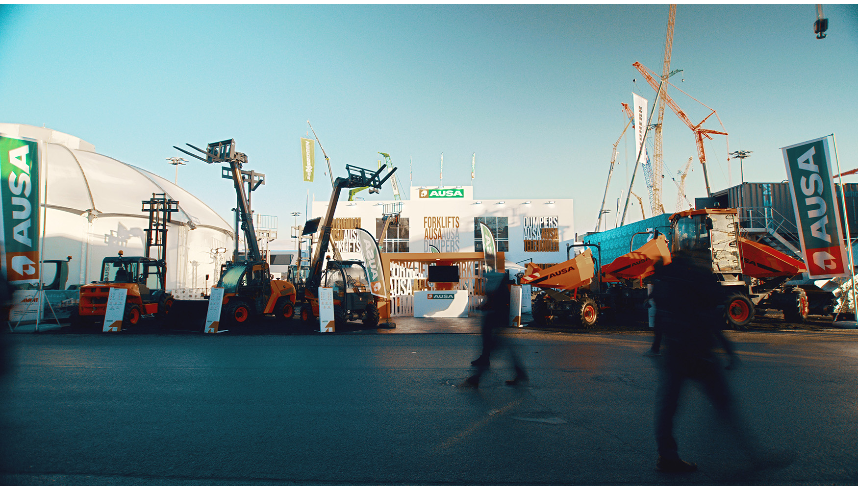
[{"label": "upright green AUSA banner in front of the white dome tent", "polygon": [[39,143],[0,136],[3,271],[12,283],[39,281]]}]

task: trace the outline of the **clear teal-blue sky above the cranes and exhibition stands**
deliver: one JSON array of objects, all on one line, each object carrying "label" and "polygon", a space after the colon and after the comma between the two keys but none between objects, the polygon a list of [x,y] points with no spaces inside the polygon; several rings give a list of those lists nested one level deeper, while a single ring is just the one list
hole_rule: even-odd
[{"label": "clear teal-blue sky above the cranes and exhibition stands", "polygon": [[[717,111],[705,128],[713,191],[740,183],[729,151],[750,150],[745,180],[786,178],[779,148],[832,133],[843,170],[858,167],[858,7],[679,5],[671,82]],[[474,198],[572,198],[575,230],[592,231],[620,102],[655,91],[631,64],[661,73],[668,5],[0,5],[0,120],[45,125],[96,151],[172,179],[172,145],[234,138],[245,168],[266,174],[257,213],[281,236],[305,200],[326,201],[318,146],[305,183],[299,138],[310,120],[335,176],[389,153],[402,185],[470,185]],[[637,80],[637,82],[635,82]],[[668,88],[697,124],[710,111]],[[613,226],[634,160],[619,143],[608,191]],[[686,194],[705,195],[692,131],[664,118],[662,197],[694,157]],[[846,181],[858,181],[858,177]],[[179,168],[178,184],[232,221],[234,194],[217,167]],[[634,191],[647,199],[644,176]],[[385,186],[381,197],[392,198]],[[612,204],[613,203],[613,204]],[[646,204],[645,204],[646,205]],[[626,222],[640,218],[630,205]],[[312,217],[312,216],[311,216]],[[649,214],[647,215],[649,217]]]}]

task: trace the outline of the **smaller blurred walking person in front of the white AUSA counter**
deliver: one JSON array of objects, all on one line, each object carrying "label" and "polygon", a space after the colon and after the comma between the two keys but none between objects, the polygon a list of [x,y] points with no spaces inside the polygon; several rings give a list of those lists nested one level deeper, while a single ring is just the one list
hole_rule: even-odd
[{"label": "smaller blurred walking person in front of the white AUSA counter", "polygon": [[465,380],[465,385],[477,388],[480,386],[480,376],[489,367],[492,351],[505,349],[510,354],[512,366],[516,370],[516,377],[508,380],[506,384],[524,384],[528,381],[527,372],[518,359],[515,348],[503,336],[499,336],[497,329],[504,328],[510,324],[510,281],[509,275],[499,272],[486,273],[486,303],[483,309],[486,314],[482,321],[482,352],[480,357],[471,361],[474,366],[474,374]]}]

